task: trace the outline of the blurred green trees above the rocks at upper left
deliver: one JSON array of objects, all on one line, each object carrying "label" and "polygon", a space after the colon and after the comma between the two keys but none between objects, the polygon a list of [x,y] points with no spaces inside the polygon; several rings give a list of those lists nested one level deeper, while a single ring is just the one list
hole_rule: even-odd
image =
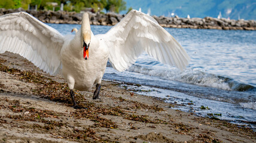
[{"label": "blurred green trees above the rocks at upper left", "polygon": [[[58,5],[53,5],[53,2]],[[64,11],[76,11],[77,13],[86,8],[91,8],[92,12],[106,10],[119,13],[127,10],[126,2],[123,0],[1,0],[0,8],[28,10],[29,6],[37,5],[38,10],[53,10],[55,7],[55,10],[58,11],[61,4],[64,4]]]}]

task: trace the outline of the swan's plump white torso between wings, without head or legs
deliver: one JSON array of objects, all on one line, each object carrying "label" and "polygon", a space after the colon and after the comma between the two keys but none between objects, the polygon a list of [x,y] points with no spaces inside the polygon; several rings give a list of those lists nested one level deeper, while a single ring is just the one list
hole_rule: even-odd
[{"label": "swan's plump white torso between wings, without head or legs", "polygon": [[62,58],[62,73],[70,89],[88,91],[93,85],[101,83],[109,57],[109,50],[104,46],[104,43],[92,35],[89,58],[85,60],[81,54],[83,53],[83,48],[81,48],[83,43],[79,40],[80,35],[81,30],[77,32],[73,41],[67,41],[69,47],[73,46],[77,49],[65,48],[61,51],[61,57],[65,57]]}]

